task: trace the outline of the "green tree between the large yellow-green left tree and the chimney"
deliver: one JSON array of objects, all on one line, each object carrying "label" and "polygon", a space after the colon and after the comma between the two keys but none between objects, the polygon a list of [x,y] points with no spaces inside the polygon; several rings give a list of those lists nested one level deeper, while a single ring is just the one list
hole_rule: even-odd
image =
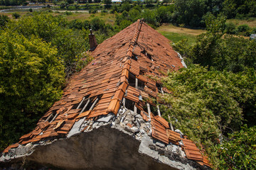
[{"label": "green tree between the large yellow-green left tree and the chimney", "polygon": [[[96,26],[98,23],[94,23]],[[104,24],[104,23],[103,23]],[[87,31],[73,31],[65,28],[67,21],[49,14],[35,14],[9,23],[10,30],[26,38],[36,35],[52,47],[57,47],[58,56],[63,61],[67,77],[75,72],[80,54],[89,48]]]}]

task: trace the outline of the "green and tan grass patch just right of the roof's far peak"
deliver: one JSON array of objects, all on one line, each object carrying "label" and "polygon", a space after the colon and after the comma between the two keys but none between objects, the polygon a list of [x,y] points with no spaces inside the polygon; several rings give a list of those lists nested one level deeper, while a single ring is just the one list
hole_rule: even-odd
[{"label": "green and tan grass patch just right of the roof's far peak", "polygon": [[196,36],[201,33],[206,33],[206,30],[194,30],[189,28],[181,28],[172,25],[161,26],[156,29],[159,33],[164,35],[172,42],[178,42],[184,38],[188,39],[188,45],[196,42]]}]

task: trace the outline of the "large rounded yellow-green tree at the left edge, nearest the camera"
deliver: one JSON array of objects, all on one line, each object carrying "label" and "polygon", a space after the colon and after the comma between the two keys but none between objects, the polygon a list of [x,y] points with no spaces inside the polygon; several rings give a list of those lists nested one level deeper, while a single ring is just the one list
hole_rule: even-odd
[{"label": "large rounded yellow-green tree at the left edge, nearest the camera", "polygon": [[57,50],[31,35],[0,34],[0,148],[34,128],[62,94],[64,67]]}]

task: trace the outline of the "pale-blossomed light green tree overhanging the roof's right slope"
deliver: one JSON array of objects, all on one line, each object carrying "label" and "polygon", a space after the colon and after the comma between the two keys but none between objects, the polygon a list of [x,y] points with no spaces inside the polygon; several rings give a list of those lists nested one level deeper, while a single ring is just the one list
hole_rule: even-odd
[{"label": "pale-blossomed light green tree overhanging the roof's right slope", "polygon": [[167,103],[163,116],[198,147],[202,144],[215,168],[222,161],[215,152],[218,140],[240,130],[242,123],[255,125],[255,75],[254,71],[235,74],[191,65],[163,80],[172,92],[161,96]]}]

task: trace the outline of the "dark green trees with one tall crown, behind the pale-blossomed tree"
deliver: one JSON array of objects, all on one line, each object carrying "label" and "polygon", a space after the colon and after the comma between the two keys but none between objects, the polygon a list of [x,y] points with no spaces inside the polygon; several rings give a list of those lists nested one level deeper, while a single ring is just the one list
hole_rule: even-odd
[{"label": "dark green trees with one tall crown, behind the pale-blossomed tree", "polygon": [[[174,45],[195,64],[214,67],[218,70],[242,72],[256,69],[256,42],[245,38],[224,35],[225,17],[215,18],[209,15],[206,19],[207,33],[201,34],[196,44],[191,47]],[[183,47],[183,50],[181,49]],[[184,54],[186,53],[186,54]]]}]

